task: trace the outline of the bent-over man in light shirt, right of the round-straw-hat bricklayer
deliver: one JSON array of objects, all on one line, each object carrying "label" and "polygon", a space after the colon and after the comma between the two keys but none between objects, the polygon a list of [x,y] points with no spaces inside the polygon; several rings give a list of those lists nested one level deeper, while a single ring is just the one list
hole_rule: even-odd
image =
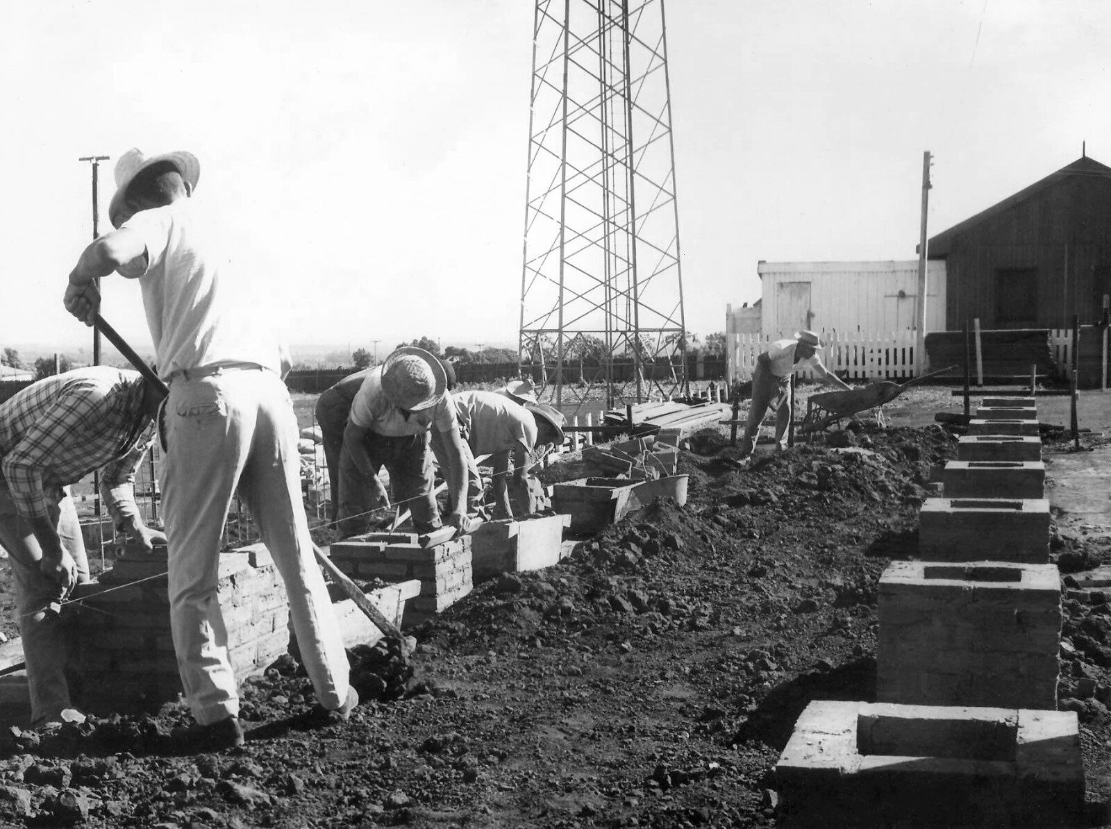
[{"label": "bent-over man in light shirt, right of the round-straw-hat bricklayer", "polygon": [[[562,416],[549,407],[522,406],[497,391],[459,391],[451,397],[468,449],[464,457],[470,511],[476,511],[482,500],[482,479],[474,458],[489,455],[493,468],[493,517],[526,515],[527,478],[534,462],[533,453],[538,447],[563,442]],[[432,436],[432,451],[448,479],[447,452],[439,435]],[[453,505],[449,501],[449,506]]]}]

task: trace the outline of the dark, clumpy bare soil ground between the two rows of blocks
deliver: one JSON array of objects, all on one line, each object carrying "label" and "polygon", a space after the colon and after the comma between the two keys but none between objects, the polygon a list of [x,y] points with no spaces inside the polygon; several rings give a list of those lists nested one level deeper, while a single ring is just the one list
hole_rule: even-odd
[{"label": "dark, clumpy bare soil ground between the two rows of blocks", "polygon": [[[557,567],[477,587],[416,631],[413,677],[354,653],[368,701],[347,723],[307,717],[307,679],[284,660],[246,688],[241,750],[176,755],[180,706],[4,730],[0,823],[773,826],[771,770],[798,713],[874,699],[877,580],[914,555],[930,469],[954,451],[930,421],[958,398],[898,402],[889,429],[848,431],[842,450],[761,452],[743,469],[723,430],[701,432],[681,460],[684,509],[657,505]],[[1107,402],[1082,425],[1102,429]],[[1043,419],[1061,422],[1058,407]],[[1047,459],[1068,447],[1050,440]],[[1107,439],[1085,448],[1108,468]],[[1053,549],[1063,570],[1111,558],[1080,525]],[[1083,723],[1088,825],[1111,770],[1109,607],[1065,602],[1061,700]]]}]

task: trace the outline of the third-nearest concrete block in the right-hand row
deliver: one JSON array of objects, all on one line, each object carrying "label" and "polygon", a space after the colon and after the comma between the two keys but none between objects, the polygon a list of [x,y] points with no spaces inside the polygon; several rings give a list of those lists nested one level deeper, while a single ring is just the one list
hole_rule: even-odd
[{"label": "third-nearest concrete block in the right-hand row", "polygon": [[1049,561],[1049,501],[1042,498],[930,498],[919,511],[924,561]]}]

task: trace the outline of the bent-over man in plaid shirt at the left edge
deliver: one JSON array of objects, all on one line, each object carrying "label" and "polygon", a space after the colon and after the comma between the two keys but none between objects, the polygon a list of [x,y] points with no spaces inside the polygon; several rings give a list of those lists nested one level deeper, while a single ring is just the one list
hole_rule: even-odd
[{"label": "bent-over man in plaid shirt at the left edge", "polygon": [[166,536],[148,528],[134,477],[153,440],[159,392],[137,371],[93,366],[48,377],[0,404],[0,543],[16,580],[31,725],[71,708],[63,620],[50,605],[89,581],[69,486],[100,470],[116,527],[147,550]]}]

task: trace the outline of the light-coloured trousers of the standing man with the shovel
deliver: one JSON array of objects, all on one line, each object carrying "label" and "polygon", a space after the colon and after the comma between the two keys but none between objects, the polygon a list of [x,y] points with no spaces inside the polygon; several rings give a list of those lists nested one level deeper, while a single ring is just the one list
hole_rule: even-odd
[{"label": "light-coloured trousers of the standing man with the shovel", "polygon": [[266,370],[203,370],[170,384],[162,467],[170,622],[193,717],[238,716],[228,632],[217,601],[220,532],[239,490],[289,597],[301,661],[326,709],[343,705],[350,667],[301,501],[297,417]]}]

